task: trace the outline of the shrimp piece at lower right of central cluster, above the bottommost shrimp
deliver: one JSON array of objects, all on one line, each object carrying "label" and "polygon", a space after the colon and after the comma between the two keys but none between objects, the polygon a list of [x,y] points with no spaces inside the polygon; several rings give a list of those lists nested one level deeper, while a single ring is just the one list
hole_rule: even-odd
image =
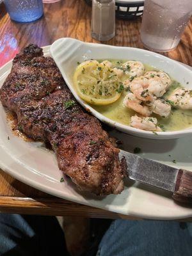
[{"label": "shrimp piece at lower right of central cluster, above the bottommost shrimp", "polygon": [[155,98],[150,109],[159,116],[168,117],[172,108],[165,100]]}]

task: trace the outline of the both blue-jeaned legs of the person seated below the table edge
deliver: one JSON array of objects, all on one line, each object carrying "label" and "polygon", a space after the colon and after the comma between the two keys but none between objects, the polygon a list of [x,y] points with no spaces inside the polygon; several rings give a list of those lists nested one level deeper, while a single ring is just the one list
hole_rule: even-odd
[{"label": "both blue-jeaned legs of the person seated below the table edge", "polygon": [[[0,214],[0,256],[68,256],[54,217]],[[97,256],[191,256],[192,223],[115,220]],[[91,256],[91,255],[89,255]]]}]

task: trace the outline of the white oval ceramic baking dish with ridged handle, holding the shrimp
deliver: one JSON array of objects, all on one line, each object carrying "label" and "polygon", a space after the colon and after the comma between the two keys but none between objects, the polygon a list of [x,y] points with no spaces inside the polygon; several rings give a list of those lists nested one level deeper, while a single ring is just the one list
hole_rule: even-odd
[{"label": "white oval ceramic baking dish with ridged handle, holding the shrimp", "polygon": [[76,97],[77,101],[85,109],[90,109],[91,113],[100,121],[122,132],[157,140],[179,138],[186,136],[187,134],[192,134],[192,128],[173,132],[156,132],[156,134],[154,134],[153,132],[143,131],[130,127],[129,125],[115,122],[89,106],[77,95],[73,86],[73,74],[77,67],[77,61],[82,62],[91,59],[120,59],[139,60],[143,63],[151,65],[154,68],[164,70],[183,86],[192,89],[192,71],[183,65],[180,65],[179,62],[173,61],[155,52],[150,52],[143,49],[116,47],[104,44],[90,44],[81,42],[74,38],[60,38],[56,40],[51,45],[51,54],[52,58],[54,58],[54,61],[58,65],[58,68],[60,68],[61,74],[74,97]]}]

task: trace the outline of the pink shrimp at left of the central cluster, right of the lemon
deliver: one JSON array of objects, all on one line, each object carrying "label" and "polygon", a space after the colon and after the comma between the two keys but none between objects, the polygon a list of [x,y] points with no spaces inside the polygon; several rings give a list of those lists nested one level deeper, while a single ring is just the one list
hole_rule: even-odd
[{"label": "pink shrimp at left of the central cluster, right of the lemon", "polygon": [[124,87],[129,87],[131,92],[134,93],[134,95],[143,101],[152,101],[153,97],[148,92],[148,79],[146,81],[143,79],[143,77],[136,77],[132,82],[129,81],[129,79],[124,81]]}]

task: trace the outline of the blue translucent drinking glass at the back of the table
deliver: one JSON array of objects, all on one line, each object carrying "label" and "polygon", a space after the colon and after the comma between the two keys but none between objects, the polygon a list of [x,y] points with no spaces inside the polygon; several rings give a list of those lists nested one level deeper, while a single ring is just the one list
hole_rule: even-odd
[{"label": "blue translucent drinking glass at the back of the table", "polygon": [[31,22],[44,14],[42,0],[4,0],[10,18],[17,22]]}]

